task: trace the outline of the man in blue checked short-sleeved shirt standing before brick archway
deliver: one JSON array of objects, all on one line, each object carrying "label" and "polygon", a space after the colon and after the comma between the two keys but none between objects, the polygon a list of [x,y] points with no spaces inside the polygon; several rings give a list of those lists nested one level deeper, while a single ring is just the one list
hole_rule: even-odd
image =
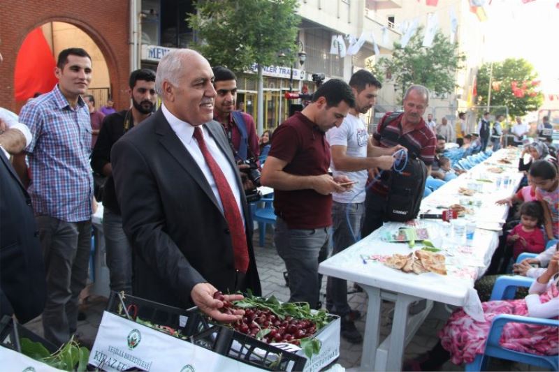
[{"label": "man in blue checked short-sleeved shirt standing before brick archway", "polygon": [[80,94],[92,79],[85,50],[60,52],[57,86],[27,103],[20,120],[33,140],[29,194],[39,228],[47,272],[45,338],[56,345],[77,329],[78,296],[87,281],[92,236],[93,178],[89,166],[92,126]]}]

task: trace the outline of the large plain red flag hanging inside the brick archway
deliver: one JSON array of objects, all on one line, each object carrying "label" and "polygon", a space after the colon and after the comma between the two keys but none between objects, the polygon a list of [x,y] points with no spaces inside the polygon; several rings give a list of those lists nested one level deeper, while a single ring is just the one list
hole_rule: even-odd
[{"label": "large plain red flag hanging inside the brick archway", "polygon": [[51,91],[58,82],[55,76],[56,65],[41,27],[31,31],[23,40],[15,60],[15,101],[25,101],[36,92]]}]

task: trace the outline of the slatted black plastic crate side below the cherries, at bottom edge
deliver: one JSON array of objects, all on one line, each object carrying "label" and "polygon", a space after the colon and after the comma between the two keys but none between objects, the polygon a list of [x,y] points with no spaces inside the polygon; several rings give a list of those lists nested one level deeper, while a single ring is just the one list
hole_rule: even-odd
[{"label": "slatted black plastic crate side below the cherries, at bottom edge", "polygon": [[196,345],[268,371],[303,371],[307,359],[222,325],[193,337]]}]

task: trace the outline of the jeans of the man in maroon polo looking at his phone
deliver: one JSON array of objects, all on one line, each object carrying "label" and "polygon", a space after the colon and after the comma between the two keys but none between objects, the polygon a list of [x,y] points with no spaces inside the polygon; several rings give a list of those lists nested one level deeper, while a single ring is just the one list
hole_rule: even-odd
[{"label": "jeans of the man in maroon polo looking at his phone", "polygon": [[316,308],[322,282],[319,263],[328,258],[330,227],[290,229],[277,217],[274,241],[289,275],[289,302],[308,302]]}]

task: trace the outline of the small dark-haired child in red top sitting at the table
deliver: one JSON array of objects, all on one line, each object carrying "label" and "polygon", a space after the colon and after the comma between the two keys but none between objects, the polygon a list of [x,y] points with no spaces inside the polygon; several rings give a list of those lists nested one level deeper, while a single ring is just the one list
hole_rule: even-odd
[{"label": "small dark-haired child in red top sitting at the table", "polygon": [[[542,253],[546,246],[542,223],[544,209],[540,202],[525,202],[520,207],[520,223],[507,236],[507,244],[512,246],[512,260],[523,252]],[[511,264],[510,264],[511,265]]]}]

